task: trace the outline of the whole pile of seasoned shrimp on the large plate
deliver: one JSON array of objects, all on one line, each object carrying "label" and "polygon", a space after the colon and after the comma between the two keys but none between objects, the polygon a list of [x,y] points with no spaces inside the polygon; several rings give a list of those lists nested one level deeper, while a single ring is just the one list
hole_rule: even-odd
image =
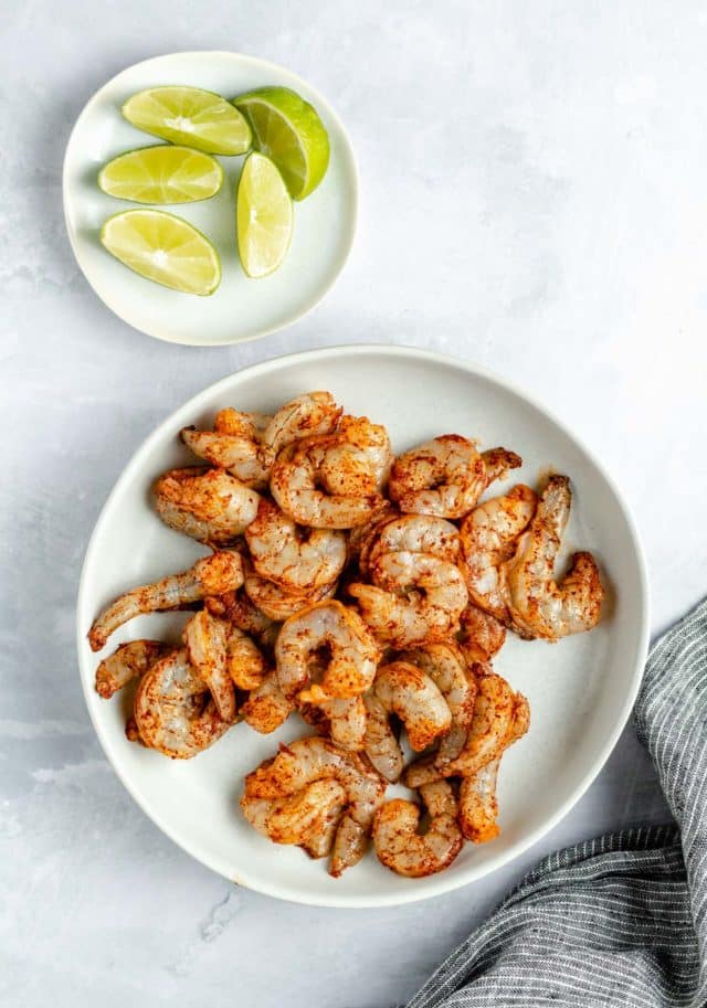
[{"label": "whole pile of seasoned shrimp on the large plate", "polygon": [[[99,651],[134,616],[192,611],[178,644],[130,640],[101,661],[102,697],[137,681],[128,739],[183,760],[239,722],[302,719],[240,807],[272,841],[330,858],[334,877],[371,838],[409,878],[493,840],[500,761],[530,718],[494,656],[507,632],[557,641],[600,619],[591,553],[555,576],[568,477],[494,496],[514,452],[447,434],[393,457],[386,428],[328,392],[273,415],[221,410],[180,436],[200,464],[160,476],[155,508],[210,552],[120,596],[88,634]],[[397,783],[419,800],[387,800]]]}]

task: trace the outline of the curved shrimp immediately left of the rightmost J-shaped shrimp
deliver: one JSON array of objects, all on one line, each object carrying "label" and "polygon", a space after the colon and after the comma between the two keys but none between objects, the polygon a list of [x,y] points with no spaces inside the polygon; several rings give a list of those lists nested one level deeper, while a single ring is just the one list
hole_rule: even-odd
[{"label": "curved shrimp immediately left of the rightmost J-shaped shrimp", "polygon": [[523,484],[475,508],[460,528],[472,602],[502,623],[510,622],[500,565],[513,555],[518,537],[535,514],[537,497]]}]

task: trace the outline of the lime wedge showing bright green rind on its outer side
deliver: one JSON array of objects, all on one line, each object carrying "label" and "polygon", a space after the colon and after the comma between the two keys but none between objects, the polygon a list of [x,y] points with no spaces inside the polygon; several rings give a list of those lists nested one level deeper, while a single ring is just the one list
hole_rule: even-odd
[{"label": "lime wedge showing bright green rind on its outer side", "polygon": [[287,87],[258,87],[233,104],[251,124],[255,150],[277,165],[293,200],[304,200],[329,163],[329,137],[316,109]]}]

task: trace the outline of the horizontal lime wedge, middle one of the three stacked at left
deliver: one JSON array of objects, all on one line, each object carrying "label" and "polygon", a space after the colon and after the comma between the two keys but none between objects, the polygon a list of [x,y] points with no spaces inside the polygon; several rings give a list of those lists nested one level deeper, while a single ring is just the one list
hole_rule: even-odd
[{"label": "horizontal lime wedge, middle one of the three stacked at left", "polygon": [[223,169],[208,153],[189,147],[143,147],[114,158],[98,185],[109,197],[134,203],[193,203],[221,189]]}]

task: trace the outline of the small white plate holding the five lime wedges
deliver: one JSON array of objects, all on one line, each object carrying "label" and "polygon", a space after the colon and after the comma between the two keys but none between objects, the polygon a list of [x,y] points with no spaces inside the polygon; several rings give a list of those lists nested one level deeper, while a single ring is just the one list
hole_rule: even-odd
[{"label": "small white plate holding the five lime wedges", "polygon": [[[96,183],[106,161],[135,147],[161,142],[127,123],[123,103],[159,84],[188,84],[226,98],[282,85],[296,91],[319,113],[329,134],[331,158],[321,184],[295,203],[295,227],[287,257],[272,276],[249,279],[235,245],[235,185],[243,158],[219,158],[221,191],[211,200],[165,206],[190,221],[213,242],[223,277],[210,297],[169,290],[131,273],[98,240],[106,217],[135,203],[105,195]],[[275,332],[296,321],[324,297],[350,252],[356,231],[358,176],[349,138],[328,102],[309,84],[277,66],[225,52],[172,53],[136,63],[108,81],[87,103],[64,156],[64,215],[84,276],[98,297],[124,321],[175,343],[207,347],[235,343]]]}]

